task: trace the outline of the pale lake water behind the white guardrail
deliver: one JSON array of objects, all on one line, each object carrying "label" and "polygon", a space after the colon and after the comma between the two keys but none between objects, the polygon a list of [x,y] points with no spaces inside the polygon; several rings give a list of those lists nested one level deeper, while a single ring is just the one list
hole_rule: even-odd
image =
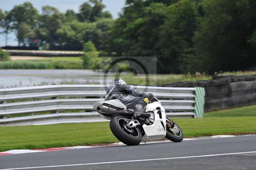
[{"label": "pale lake water behind the white guardrail", "polygon": [[[108,77],[109,78],[109,77]],[[112,80],[110,78],[108,83]],[[27,70],[0,69],[0,88],[50,84],[103,84],[103,73],[92,70]]]}]

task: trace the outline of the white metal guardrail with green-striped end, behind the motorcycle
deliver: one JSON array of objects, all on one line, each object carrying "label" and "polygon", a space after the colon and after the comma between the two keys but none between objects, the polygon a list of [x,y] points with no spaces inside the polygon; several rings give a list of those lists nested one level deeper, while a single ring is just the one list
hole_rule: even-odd
[{"label": "white metal guardrail with green-striped end, behind the motorcycle", "polygon": [[[203,117],[204,88],[134,88],[140,91],[146,88],[147,93],[153,93],[160,99],[170,117]],[[106,121],[92,108],[95,102],[104,101],[105,94],[104,85],[48,85],[0,89],[0,126]],[[79,112],[68,113],[68,110]],[[27,116],[28,114],[31,115]]]}]

